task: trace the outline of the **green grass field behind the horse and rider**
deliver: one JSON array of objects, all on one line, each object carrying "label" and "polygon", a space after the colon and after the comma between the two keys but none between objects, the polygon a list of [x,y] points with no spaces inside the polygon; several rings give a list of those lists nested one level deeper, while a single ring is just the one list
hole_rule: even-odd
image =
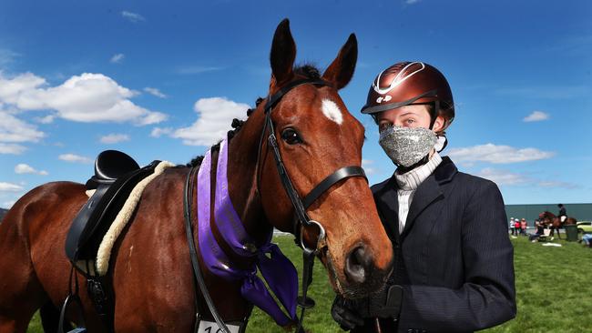
[{"label": "green grass field behind the horse and rider", "polygon": [[[284,253],[301,268],[301,250],[292,237],[276,237]],[[563,247],[543,247],[526,237],[512,239],[518,314],[514,320],[485,332],[592,332],[592,249],[556,241]],[[310,295],[316,308],[307,311],[311,332],[342,331],[332,320],[333,291],[322,265],[315,265]],[[285,333],[258,308],[248,332]],[[42,332],[36,316],[28,332]]]}]

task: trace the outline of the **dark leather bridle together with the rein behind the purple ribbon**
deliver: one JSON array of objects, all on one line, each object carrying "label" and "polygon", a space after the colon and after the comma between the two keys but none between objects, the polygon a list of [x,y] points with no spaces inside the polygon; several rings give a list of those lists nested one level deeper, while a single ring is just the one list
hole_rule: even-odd
[{"label": "dark leather bridle together with the rein behind the purple ribbon", "polygon": [[[276,106],[281,97],[285,96],[287,93],[291,91],[291,89],[301,86],[301,85],[314,85],[314,86],[331,86],[330,83],[322,80],[322,79],[311,79],[311,78],[304,78],[292,81],[286,86],[281,87],[279,91],[275,94],[268,96],[266,100],[266,104],[264,107],[265,113],[265,122],[263,124],[263,129],[261,131],[260,136],[260,143],[259,143],[259,150],[257,156],[257,165],[256,165],[256,182],[257,182],[257,190],[259,192],[259,180],[260,180],[260,154],[262,152],[263,146],[263,137],[266,135],[268,128],[269,128],[269,136],[267,136],[268,147],[271,148],[271,152],[273,153],[273,157],[276,164],[276,169],[278,170],[278,174],[281,179],[281,184],[286,191],[286,194],[290,198],[291,205],[294,208],[294,226],[293,226],[293,233],[296,236],[295,242],[298,246],[302,248],[302,262],[303,262],[303,269],[302,269],[302,294],[298,298],[298,306],[301,307],[301,316],[299,319],[299,326],[297,332],[303,332],[302,328],[302,319],[304,318],[304,310],[306,308],[312,308],[314,306],[314,301],[311,298],[308,298],[307,291],[312,282],[312,267],[314,265],[314,257],[319,254],[322,250],[322,247],[325,246],[325,229],[322,227],[321,223],[315,221],[309,217],[306,212],[306,209],[311,206],[319,197],[322,196],[324,192],[326,192],[329,188],[331,188],[336,183],[342,181],[345,178],[349,177],[363,177],[367,180],[366,175],[362,169],[362,166],[343,166],[333,172],[330,176],[325,177],[316,187],[312,188],[311,192],[306,195],[303,199],[300,197],[298,192],[296,191],[293,183],[291,182],[290,175],[288,174],[288,170],[283,163],[281,158],[280,147],[278,146],[278,141],[275,136],[275,129],[273,126],[273,122],[271,121],[271,112],[273,111],[273,107]],[[208,308],[212,317],[216,320],[220,330],[225,333],[230,333],[230,329],[225,325],[224,321],[220,318],[218,311],[216,310],[212,299],[209,296],[208,289],[206,288],[205,281],[203,279],[203,275],[201,274],[199,268],[199,262],[197,257],[197,250],[195,247],[195,243],[193,241],[193,231],[191,227],[191,213],[190,213],[190,202],[191,202],[191,178],[195,174],[195,168],[189,172],[186,186],[185,186],[185,199],[184,199],[184,207],[185,207],[185,227],[186,233],[189,242],[189,253],[191,256],[191,264],[193,267],[194,278],[196,278],[199,289],[201,289],[201,293],[208,304]],[[260,192],[259,192],[260,193]],[[317,227],[319,230],[319,236],[317,237],[316,246],[314,248],[307,247],[304,244],[303,239],[303,231],[306,227]],[[197,290],[196,290],[197,292]],[[196,294],[197,295],[197,294]],[[197,299],[196,299],[197,301]]]}]

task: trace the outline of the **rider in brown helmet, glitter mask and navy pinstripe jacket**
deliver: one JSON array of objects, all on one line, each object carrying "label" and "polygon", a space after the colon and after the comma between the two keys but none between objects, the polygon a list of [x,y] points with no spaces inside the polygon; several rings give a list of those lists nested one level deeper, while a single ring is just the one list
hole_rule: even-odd
[{"label": "rider in brown helmet, glitter mask and navy pinstripe jacket", "polygon": [[454,119],[444,76],[422,62],[390,66],[373,81],[362,113],[373,116],[396,166],[372,187],[393,242],[393,274],[378,293],[336,298],[332,317],[353,332],[466,332],[514,318],[500,191],[439,154]]}]

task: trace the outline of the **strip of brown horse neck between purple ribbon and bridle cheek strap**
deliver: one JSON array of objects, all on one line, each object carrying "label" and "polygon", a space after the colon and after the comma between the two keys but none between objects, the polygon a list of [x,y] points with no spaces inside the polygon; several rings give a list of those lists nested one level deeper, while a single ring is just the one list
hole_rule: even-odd
[{"label": "strip of brown horse neck between purple ribbon and bridle cheek strap", "polygon": [[257,155],[263,121],[263,110],[259,107],[230,140],[228,157],[232,205],[247,233],[258,243],[264,242],[272,229],[257,192]]}]

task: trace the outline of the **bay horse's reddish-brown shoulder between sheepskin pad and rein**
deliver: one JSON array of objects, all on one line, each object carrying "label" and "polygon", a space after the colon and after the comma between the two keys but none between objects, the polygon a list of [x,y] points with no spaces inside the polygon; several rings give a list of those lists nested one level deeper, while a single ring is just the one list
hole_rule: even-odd
[{"label": "bay horse's reddish-brown shoulder between sheepskin pad and rein", "polygon": [[188,171],[169,168],[148,184],[135,217],[116,246],[115,313],[122,318],[116,322],[125,326],[118,328],[190,330],[193,285],[183,225]]}]

